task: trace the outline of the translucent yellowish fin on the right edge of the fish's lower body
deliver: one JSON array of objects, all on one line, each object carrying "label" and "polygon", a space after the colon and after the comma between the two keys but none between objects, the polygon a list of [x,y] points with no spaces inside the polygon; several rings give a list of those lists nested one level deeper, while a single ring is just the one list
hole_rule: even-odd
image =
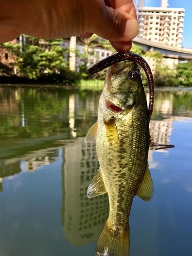
[{"label": "translucent yellowish fin on the right edge of the fish's lower body", "polygon": [[153,181],[148,166],[146,168],[143,181],[141,182],[139,189],[137,191],[137,196],[143,199],[144,201],[150,201],[151,198],[153,197]]}]

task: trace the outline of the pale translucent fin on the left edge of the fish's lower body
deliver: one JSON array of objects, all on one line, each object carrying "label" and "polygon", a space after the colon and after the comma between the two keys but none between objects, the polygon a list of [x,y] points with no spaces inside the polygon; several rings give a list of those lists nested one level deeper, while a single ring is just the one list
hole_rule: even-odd
[{"label": "pale translucent fin on the left edge of the fish's lower body", "polygon": [[106,188],[104,186],[102,174],[99,168],[98,172],[93,177],[93,180],[91,181],[88,187],[87,196],[91,198],[91,197],[97,197],[97,196],[103,195],[105,193],[106,193]]}]

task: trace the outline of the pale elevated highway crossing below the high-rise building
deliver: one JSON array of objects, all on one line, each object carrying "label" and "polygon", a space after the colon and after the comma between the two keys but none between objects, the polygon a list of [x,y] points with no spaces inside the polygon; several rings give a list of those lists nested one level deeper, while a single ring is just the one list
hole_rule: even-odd
[{"label": "pale elevated highway crossing below the high-rise building", "polygon": [[167,46],[163,44],[159,44],[158,42],[149,41],[146,39],[142,39],[141,37],[136,36],[133,39],[133,42],[136,46],[142,47],[144,51],[159,51],[165,58],[172,59],[181,59],[181,60],[192,60],[192,48],[184,48],[184,47],[173,47]]}]

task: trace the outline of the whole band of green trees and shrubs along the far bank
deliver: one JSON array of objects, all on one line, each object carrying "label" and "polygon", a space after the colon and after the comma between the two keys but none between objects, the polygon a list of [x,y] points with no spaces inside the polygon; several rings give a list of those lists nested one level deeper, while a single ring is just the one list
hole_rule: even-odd
[{"label": "whole band of green trees and shrubs along the far bank", "polygon": [[[88,39],[79,38],[79,40],[84,45],[84,53],[81,54],[74,50],[76,56],[81,58],[78,73],[74,73],[68,68],[67,57],[70,49],[61,47],[62,39],[44,40],[39,44],[38,38],[25,36],[25,44],[22,48],[19,44],[0,44],[1,52],[9,51],[12,56],[16,56],[9,65],[0,62],[0,75],[5,78],[3,81],[7,81],[10,77],[9,80],[12,82],[23,81],[24,83],[79,84],[80,79],[104,80],[105,70],[89,76],[87,66],[88,64],[92,65],[91,61],[99,60],[98,52],[95,49],[106,49],[111,52],[115,52],[115,50],[109,41],[103,40],[97,35]],[[153,70],[156,86],[192,85],[192,61],[181,62],[174,70],[166,65],[163,55],[159,51],[148,51],[143,54],[142,48],[134,44],[131,51],[142,55],[147,60]],[[90,60],[90,56],[93,56],[94,60]],[[13,75],[13,68],[17,69],[17,76]],[[147,85],[143,70],[142,75],[143,82]]]}]

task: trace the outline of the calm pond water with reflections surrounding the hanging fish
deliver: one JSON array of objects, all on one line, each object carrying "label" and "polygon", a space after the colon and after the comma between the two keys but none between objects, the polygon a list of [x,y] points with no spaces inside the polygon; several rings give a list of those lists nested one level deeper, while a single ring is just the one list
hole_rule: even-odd
[{"label": "calm pond water with reflections surrounding the hanging fish", "polygon": [[[108,217],[87,187],[98,168],[84,136],[99,91],[0,88],[0,255],[92,256]],[[130,256],[192,255],[192,91],[156,90],[150,149],[154,196],[135,197]]]}]

